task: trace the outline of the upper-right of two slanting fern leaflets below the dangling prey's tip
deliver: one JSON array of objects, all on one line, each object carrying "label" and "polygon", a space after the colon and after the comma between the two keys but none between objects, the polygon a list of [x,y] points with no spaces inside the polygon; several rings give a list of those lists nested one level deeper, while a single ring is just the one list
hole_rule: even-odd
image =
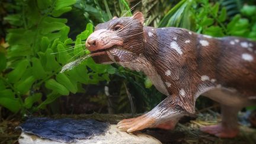
[{"label": "upper-right of two slanting fern leaflets below the dangling prey's tip", "polygon": [[75,94],[78,90],[76,85],[73,85],[68,76],[66,76],[64,73],[58,73],[56,76],[56,80],[60,84],[64,85],[66,89],[71,91],[73,94]]}]

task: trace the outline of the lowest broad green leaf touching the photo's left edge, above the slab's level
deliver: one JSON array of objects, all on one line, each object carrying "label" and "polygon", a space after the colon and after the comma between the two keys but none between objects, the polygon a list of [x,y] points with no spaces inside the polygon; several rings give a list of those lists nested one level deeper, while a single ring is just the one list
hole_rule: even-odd
[{"label": "lowest broad green leaf touching the photo's left edge, above the slab's level", "polygon": [[21,108],[20,101],[17,98],[0,97],[0,105],[12,111],[12,113],[17,113]]}]

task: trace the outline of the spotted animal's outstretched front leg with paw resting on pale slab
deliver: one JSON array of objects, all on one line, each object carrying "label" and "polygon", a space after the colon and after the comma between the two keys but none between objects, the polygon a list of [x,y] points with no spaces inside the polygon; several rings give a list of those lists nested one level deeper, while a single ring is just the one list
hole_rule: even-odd
[{"label": "spotted animal's outstretched front leg with paw resting on pale slab", "polygon": [[148,113],[136,118],[121,120],[117,124],[117,127],[129,133],[149,127],[173,129],[180,117],[187,114],[187,112],[178,105],[177,101],[180,100],[177,99],[178,97],[175,95],[169,96]]}]

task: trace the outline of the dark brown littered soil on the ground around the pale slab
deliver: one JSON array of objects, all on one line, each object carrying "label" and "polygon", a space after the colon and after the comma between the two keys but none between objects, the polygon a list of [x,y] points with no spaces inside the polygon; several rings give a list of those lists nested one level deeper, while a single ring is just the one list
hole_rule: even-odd
[{"label": "dark brown littered soil on the ground around the pale slab", "polygon": [[[137,114],[136,116],[139,116]],[[122,119],[136,117],[130,114],[78,114],[78,115],[53,115],[53,118],[69,117],[73,119],[95,119],[107,121],[110,124],[116,124]],[[42,116],[43,117],[43,116]],[[0,123],[0,143],[18,143],[18,137],[21,131],[15,130],[15,127],[24,120],[11,119],[2,120]],[[220,139],[219,137],[208,135],[199,130],[200,126],[206,126],[219,123],[220,116],[217,113],[199,113],[192,117],[184,117],[177,124],[175,130],[145,129],[146,133],[162,143],[256,143],[256,129],[249,128],[240,124],[239,136],[233,139]]]}]

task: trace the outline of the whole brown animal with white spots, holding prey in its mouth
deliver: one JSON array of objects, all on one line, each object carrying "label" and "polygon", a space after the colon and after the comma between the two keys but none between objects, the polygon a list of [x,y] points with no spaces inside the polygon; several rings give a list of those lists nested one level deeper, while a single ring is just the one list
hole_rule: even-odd
[{"label": "whole brown animal with white spots, holding prey in its mouth", "polygon": [[256,42],[183,28],[145,27],[143,21],[141,12],[113,18],[98,24],[86,43],[95,62],[142,71],[167,95],[143,116],[120,121],[119,129],[174,129],[180,117],[195,112],[195,101],[203,94],[221,104],[222,123],[201,130],[236,136],[238,111],[256,102]]}]

